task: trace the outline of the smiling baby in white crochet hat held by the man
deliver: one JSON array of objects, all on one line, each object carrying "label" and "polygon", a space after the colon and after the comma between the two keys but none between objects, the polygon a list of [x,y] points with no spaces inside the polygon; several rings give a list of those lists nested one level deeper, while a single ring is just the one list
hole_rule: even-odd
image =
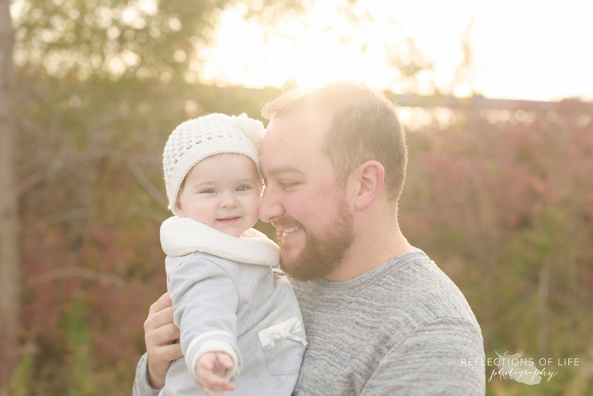
[{"label": "smiling baby in white crochet hat held by the man", "polygon": [[160,395],[288,396],[297,382],[301,312],[274,270],[278,247],[251,228],[263,132],[246,114],[209,114],[177,126],[165,145],[176,216],[162,223],[161,245],[184,359],[171,363]]}]

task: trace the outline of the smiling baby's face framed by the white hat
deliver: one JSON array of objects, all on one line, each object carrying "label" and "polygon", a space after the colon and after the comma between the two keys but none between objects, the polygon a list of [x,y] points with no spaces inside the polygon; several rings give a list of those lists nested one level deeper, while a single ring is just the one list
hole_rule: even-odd
[{"label": "smiling baby's face framed by the white hat", "polygon": [[202,159],[189,171],[175,212],[238,237],[256,223],[261,195],[251,158],[216,154]]}]

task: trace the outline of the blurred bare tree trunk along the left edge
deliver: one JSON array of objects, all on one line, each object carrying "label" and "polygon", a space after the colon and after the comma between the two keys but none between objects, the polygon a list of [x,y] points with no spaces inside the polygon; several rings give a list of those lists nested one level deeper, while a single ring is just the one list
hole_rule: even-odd
[{"label": "blurred bare tree trunk along the left edge", "polygon": [[14,30],[9,0],[0,0],[0,384],[18,359],[20,264],[14,151]]}]

